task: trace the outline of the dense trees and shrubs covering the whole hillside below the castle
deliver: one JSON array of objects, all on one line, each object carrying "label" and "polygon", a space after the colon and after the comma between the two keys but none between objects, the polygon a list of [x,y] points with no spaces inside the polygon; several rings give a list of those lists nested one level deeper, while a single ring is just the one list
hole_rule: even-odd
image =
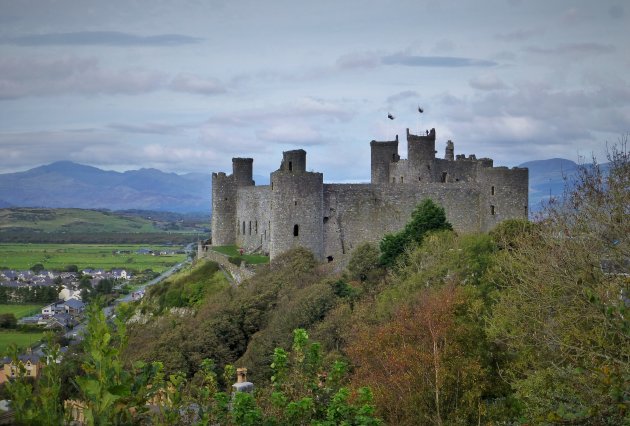
[{"label": "dense trees and shrubs covering the whole hillside below the castle", "polygon": [[[148,294],[128,345],[124,322],[89,340],[81,398],[114,423],[629,424],[629,159],[622,144],[609,174],[585,168],[540,220],[489,234],[458,235],[425,202],[391,262],[400,235],[340,275],[303,249],[239,286],[201,264]],[[130,375],[94,375],[87,354],[110,347],[107,371]],[[253,395],[221,392],[233,365]],[[141,417],[149,398],[159,413]],[[128,407],[140,417],[111,417]]]}]

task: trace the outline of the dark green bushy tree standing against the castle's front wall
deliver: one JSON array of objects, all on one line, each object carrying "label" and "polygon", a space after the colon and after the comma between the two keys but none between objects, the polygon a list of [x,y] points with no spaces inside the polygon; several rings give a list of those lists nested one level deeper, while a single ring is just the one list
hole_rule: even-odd
[{"label": "dark green bushy tree standing against the castle's front wall", "polygon": [[411,220],[402,231],[383,237],[380,244],[381,263],[391,267],[408,245],[422,243],[429,232],[449,229],[453,227],[446,221],[444,209],[427,198],[415,208]]}]

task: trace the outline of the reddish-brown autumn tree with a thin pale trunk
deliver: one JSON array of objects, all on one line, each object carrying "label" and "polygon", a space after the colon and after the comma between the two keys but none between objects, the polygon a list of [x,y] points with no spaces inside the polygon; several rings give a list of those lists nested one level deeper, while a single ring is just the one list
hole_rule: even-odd
[{"label": "reddish-brown autumn tree with a thin pale trunk", "polygon": [[489,386],[472,287],[429,288],[348,348],[388,424],[477,424]]}]

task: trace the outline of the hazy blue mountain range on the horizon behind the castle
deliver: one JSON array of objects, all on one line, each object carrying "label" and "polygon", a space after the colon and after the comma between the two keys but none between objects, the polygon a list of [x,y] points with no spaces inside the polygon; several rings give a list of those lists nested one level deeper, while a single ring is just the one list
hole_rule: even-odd
[{"label": "hazy blue mountain range on the horizon behind the castle", "polygon": [[[575,175],[578,165],[552,158],[529,161],[529,205],[541,208],[549,196],[562,195],[565,180]],[[268,177],[255,176],[258,183]],[[126,172],[59,161],[24,172],[0,174],[0,208],[75,207],[110,210],[157,210],[177,213],[209,212],[210,174],[178,175],[157,169]]]}]

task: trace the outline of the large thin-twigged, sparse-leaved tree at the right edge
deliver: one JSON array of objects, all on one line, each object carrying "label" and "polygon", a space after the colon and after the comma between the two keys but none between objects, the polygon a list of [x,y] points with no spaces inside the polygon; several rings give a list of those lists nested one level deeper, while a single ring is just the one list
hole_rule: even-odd
[{"label": "large thin-twigged, sparse-leaved tree at the right edge", "polygon": [[541,223],[497,258],[488,334],[533,422],[630,422],[630,153],[582,166]]}]

